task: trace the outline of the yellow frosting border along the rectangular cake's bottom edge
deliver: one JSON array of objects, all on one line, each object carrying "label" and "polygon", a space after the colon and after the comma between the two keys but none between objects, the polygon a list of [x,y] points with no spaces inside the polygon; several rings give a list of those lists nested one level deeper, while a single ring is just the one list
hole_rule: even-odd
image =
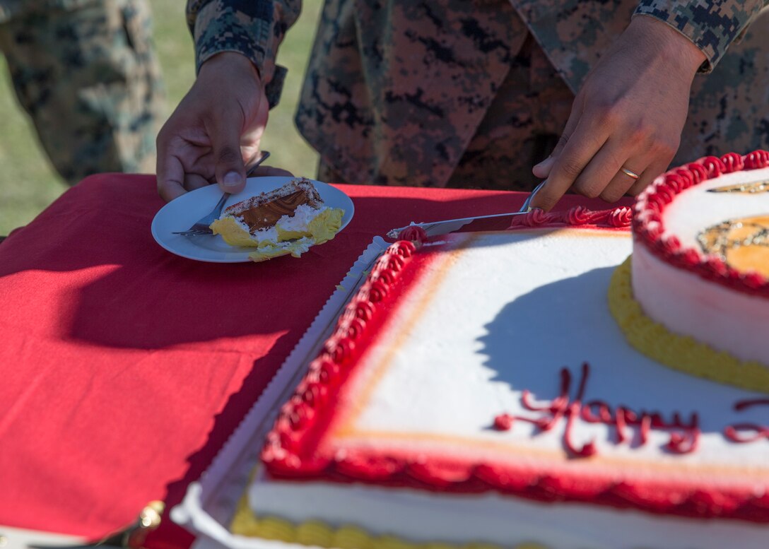
[{"label": "yellow frosting border along the rectangular cake's bottom edge", "polygon": [[[284,543],[314,545],[326,549],[501,549],[494,544],[445,544],[441,542],[414,543],[395,536],[375,536],[360,527],[345,525],[332,527],[321,521],[293,524],[281,518],[259,518],[251,513],[247,497],[241,497],[230,531],[246,537],[260,537]],[[524,543],[511,549],[548,549],[548,547]]]}]

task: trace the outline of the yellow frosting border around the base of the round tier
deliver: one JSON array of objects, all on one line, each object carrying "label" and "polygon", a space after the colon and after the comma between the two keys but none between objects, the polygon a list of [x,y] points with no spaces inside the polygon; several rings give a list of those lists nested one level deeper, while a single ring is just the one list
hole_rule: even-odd
[{"label": "yellow frosting border around the base of the round tier", "polygon": [[632,256],[614,270],[608,288],[609,310],[629,344],[674,370],[769,393],[769,367],[757,361],[741,361],[694,338],[674,334],[648,318],[633,296],[631,261]]}]

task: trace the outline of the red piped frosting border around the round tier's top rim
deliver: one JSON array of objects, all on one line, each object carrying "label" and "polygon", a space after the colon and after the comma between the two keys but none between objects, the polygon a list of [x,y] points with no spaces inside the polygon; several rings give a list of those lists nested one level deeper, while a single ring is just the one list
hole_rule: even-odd
[{"label": "red piped frosting border around the round tier's top rim", "polygon": [[769,298],[769,280],[755,272],[742,273],[721,258],[704,255],[695,248],[684,248],[673,235],[664,235],[663,212],[676,195],[693,185],[734,171],[749,171],[769,166],[769,151],[753,151],[747,155],[731,152],[718,158],[706,156],[685,166],[667,171],[649,185],[634,206],[633,235],[668,265],[699,275],[708,281],[735,291]]}]

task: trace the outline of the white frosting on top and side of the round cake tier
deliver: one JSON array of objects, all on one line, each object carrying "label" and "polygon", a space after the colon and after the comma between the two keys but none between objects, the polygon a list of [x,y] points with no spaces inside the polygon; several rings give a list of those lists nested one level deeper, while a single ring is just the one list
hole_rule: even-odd
[{"label": "white frosting on top and side of the round cake tier", "polygon": [[[769,215],[769,192],[707,192],[767,178],[769,168],[740,171],[688,188],[665,208],[662,238],[675,236],[684,248],[702,253],[697,234],[705,228],[730,219]],[[707,342],[741,360],[759,361],[769,367],[769,303],[765,298],[734,291],[674,268],[642,245],[633,250],[633,291],[644,313],[668,330]]]}]

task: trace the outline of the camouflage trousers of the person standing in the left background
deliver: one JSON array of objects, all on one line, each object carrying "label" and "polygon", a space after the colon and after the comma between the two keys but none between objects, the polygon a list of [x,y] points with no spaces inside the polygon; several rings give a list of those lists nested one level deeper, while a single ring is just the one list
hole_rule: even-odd
[{"label": "camouflage trousers of the person standing in the left background", "polygon": [[148,2],[39,4],[0,23],[0,51],[55,169],[69,185],[107,171],[154,172],[165,92]]}]

